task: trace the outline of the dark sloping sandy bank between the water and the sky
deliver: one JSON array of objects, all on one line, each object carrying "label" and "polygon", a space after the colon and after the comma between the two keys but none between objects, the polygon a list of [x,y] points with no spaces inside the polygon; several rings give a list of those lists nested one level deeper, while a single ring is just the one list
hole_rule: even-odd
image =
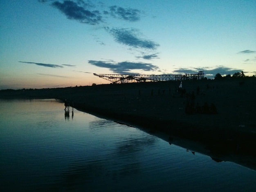
[{"label": "dark sloping sandy bank between the water and the sky", "polygon": [[239,82],[183,81],[186,93],[195,93],[195,104],[213,103],[217,114],[186,113],[187,96],[177,92],[180,82],[175,81],[2,90],[0,98],[69,99],[76,109],[163,132],[170,143],[179,143],[177,138],[201,143],[205,153],[225,161],[225,156],[246,156],[236,162],[256,167],[256,80]]}]

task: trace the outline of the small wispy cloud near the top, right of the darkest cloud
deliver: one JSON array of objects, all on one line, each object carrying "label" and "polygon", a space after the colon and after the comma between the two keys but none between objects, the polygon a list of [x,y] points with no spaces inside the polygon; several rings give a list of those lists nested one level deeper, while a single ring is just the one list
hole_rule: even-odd
[{"label": "small wispy cloud near the top, right of the darkest cloud", "polygon": [[[105,11],[105,14],[108,13]],[[110,15],[114,18],[123,19],[127,21],[138,21],[140,19],[141,11],[138,9],[124,9],[123,7],[111,6]]]}]

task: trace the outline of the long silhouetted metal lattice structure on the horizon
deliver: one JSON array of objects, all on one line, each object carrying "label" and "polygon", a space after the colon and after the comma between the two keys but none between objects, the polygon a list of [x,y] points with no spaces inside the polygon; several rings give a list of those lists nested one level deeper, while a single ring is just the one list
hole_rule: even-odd
[{"label": "long silhouetted metal lattice structure on the horizon", "polygon": [[198,74],[185,75],[132,75],[132,74],[95,74],[100,78],[108,80],[112,83],[136,83],[150,81],[168,81],[168,80],[192,80],[204,78],[204,72],[199,71]]}]

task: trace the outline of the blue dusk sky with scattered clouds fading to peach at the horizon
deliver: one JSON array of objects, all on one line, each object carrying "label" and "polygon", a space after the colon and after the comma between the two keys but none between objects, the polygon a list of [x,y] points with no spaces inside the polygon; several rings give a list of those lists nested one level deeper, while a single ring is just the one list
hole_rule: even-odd
[{"label": "blue dusk sky with scattered clouds fading to peach at the horizon", "polygon": [[256,0],[1,0],[0,89],[256,75]]}]

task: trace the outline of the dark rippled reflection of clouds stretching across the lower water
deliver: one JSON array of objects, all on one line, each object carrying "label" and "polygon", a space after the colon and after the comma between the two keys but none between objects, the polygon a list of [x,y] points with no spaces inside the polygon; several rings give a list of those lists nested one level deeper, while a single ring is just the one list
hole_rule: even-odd
[{"label": "dark rippled reflection of clouds stretching across the lower water", "polygon": [[[106,126],[106,121],[101,123]],[[143,151],[155,143],[156,138],[147,134],[130,134],[128,138],[123,139],[117,141],[114,149],[109,150],[109,153],[101,155],[97,152],[95,156],[89,155],[89,158],[93,160],[85,158],[72,162],[57,176],[56,183],[51,189],[58,188],[59,190],[61,186],[63,190],[104,190],[101,188],[104,185],[110,186],[109,183],[112,182],[117,182],[118,185],[125,178],[130,180],[132,176],[140,174],[143,166],[140,160],[144,156]]]}]

